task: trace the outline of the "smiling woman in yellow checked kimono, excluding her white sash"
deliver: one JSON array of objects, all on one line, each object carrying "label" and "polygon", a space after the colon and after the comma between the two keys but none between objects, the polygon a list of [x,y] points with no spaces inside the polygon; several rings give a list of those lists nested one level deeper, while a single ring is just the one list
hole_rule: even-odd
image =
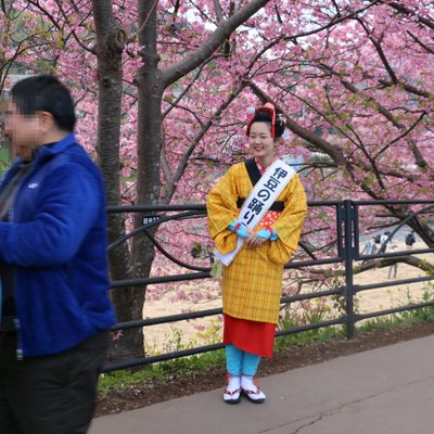
[{"label": "smiling woman in yellow checked kimono, excluding her white sash", "polygon": [[246,129],[253,158],[233,165],[210,190],[206,202],[216,250],[228,254],[238,239],[243,240],[233,260],[222,267],[228,370],[224,400],[228,404],[238,404],[242,394],[255,404],[266,399],[254,378],[260,357],[272,356],[283,266],[297,248],[307,212],[305,191],[295,174],[254,230],[240,220],[240,208],[253,183],[259,182],[277,158],[276,148],[283,131],[284,120],[271,104],[257,108]]}]

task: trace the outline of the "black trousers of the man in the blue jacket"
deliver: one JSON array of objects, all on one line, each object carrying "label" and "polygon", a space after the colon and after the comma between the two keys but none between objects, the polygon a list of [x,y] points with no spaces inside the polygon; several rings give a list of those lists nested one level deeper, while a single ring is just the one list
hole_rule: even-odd
[{"label": "black trousers of the man in the blue jacket", "polygon": [[108,332],[53,355],[16,360],[16,334],[0,332],[0,432],[85,434]]}]

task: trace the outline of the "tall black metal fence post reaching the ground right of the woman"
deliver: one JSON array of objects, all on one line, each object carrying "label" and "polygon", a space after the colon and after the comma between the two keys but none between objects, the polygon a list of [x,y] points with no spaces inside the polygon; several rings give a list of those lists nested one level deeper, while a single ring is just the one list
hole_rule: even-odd
[{"label": "tall black metal fence post reaching the ground right of the woman", "polygon": [[354,337],[355,312],[354,312],[354,204],[353,201],[344,201],[344,260],[345,260],[345,301],[346,301],[346,339]]}]

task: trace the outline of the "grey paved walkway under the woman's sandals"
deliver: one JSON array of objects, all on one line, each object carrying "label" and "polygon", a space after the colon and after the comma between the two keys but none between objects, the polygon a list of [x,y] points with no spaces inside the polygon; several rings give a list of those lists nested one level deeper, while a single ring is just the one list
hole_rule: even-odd
[{"label": "grey paved walkway under the woman's sandals", "polygon": [[97,418],[90,434],[413,434],[434,430],[434,336],[260,380],[268,399],[221,390]]}]

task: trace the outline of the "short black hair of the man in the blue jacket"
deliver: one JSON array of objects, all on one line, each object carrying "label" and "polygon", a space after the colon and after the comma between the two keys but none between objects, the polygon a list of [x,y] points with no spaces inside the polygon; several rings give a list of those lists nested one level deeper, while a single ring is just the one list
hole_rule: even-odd
[{"label": "short black hair of the man in the blue jacket", "polygon": [[76,123],[69,90],[52,75],[38,75],[17,81],[11,89],[13,103],[23,115],[49,112],[58,128],[73,131]]}]

